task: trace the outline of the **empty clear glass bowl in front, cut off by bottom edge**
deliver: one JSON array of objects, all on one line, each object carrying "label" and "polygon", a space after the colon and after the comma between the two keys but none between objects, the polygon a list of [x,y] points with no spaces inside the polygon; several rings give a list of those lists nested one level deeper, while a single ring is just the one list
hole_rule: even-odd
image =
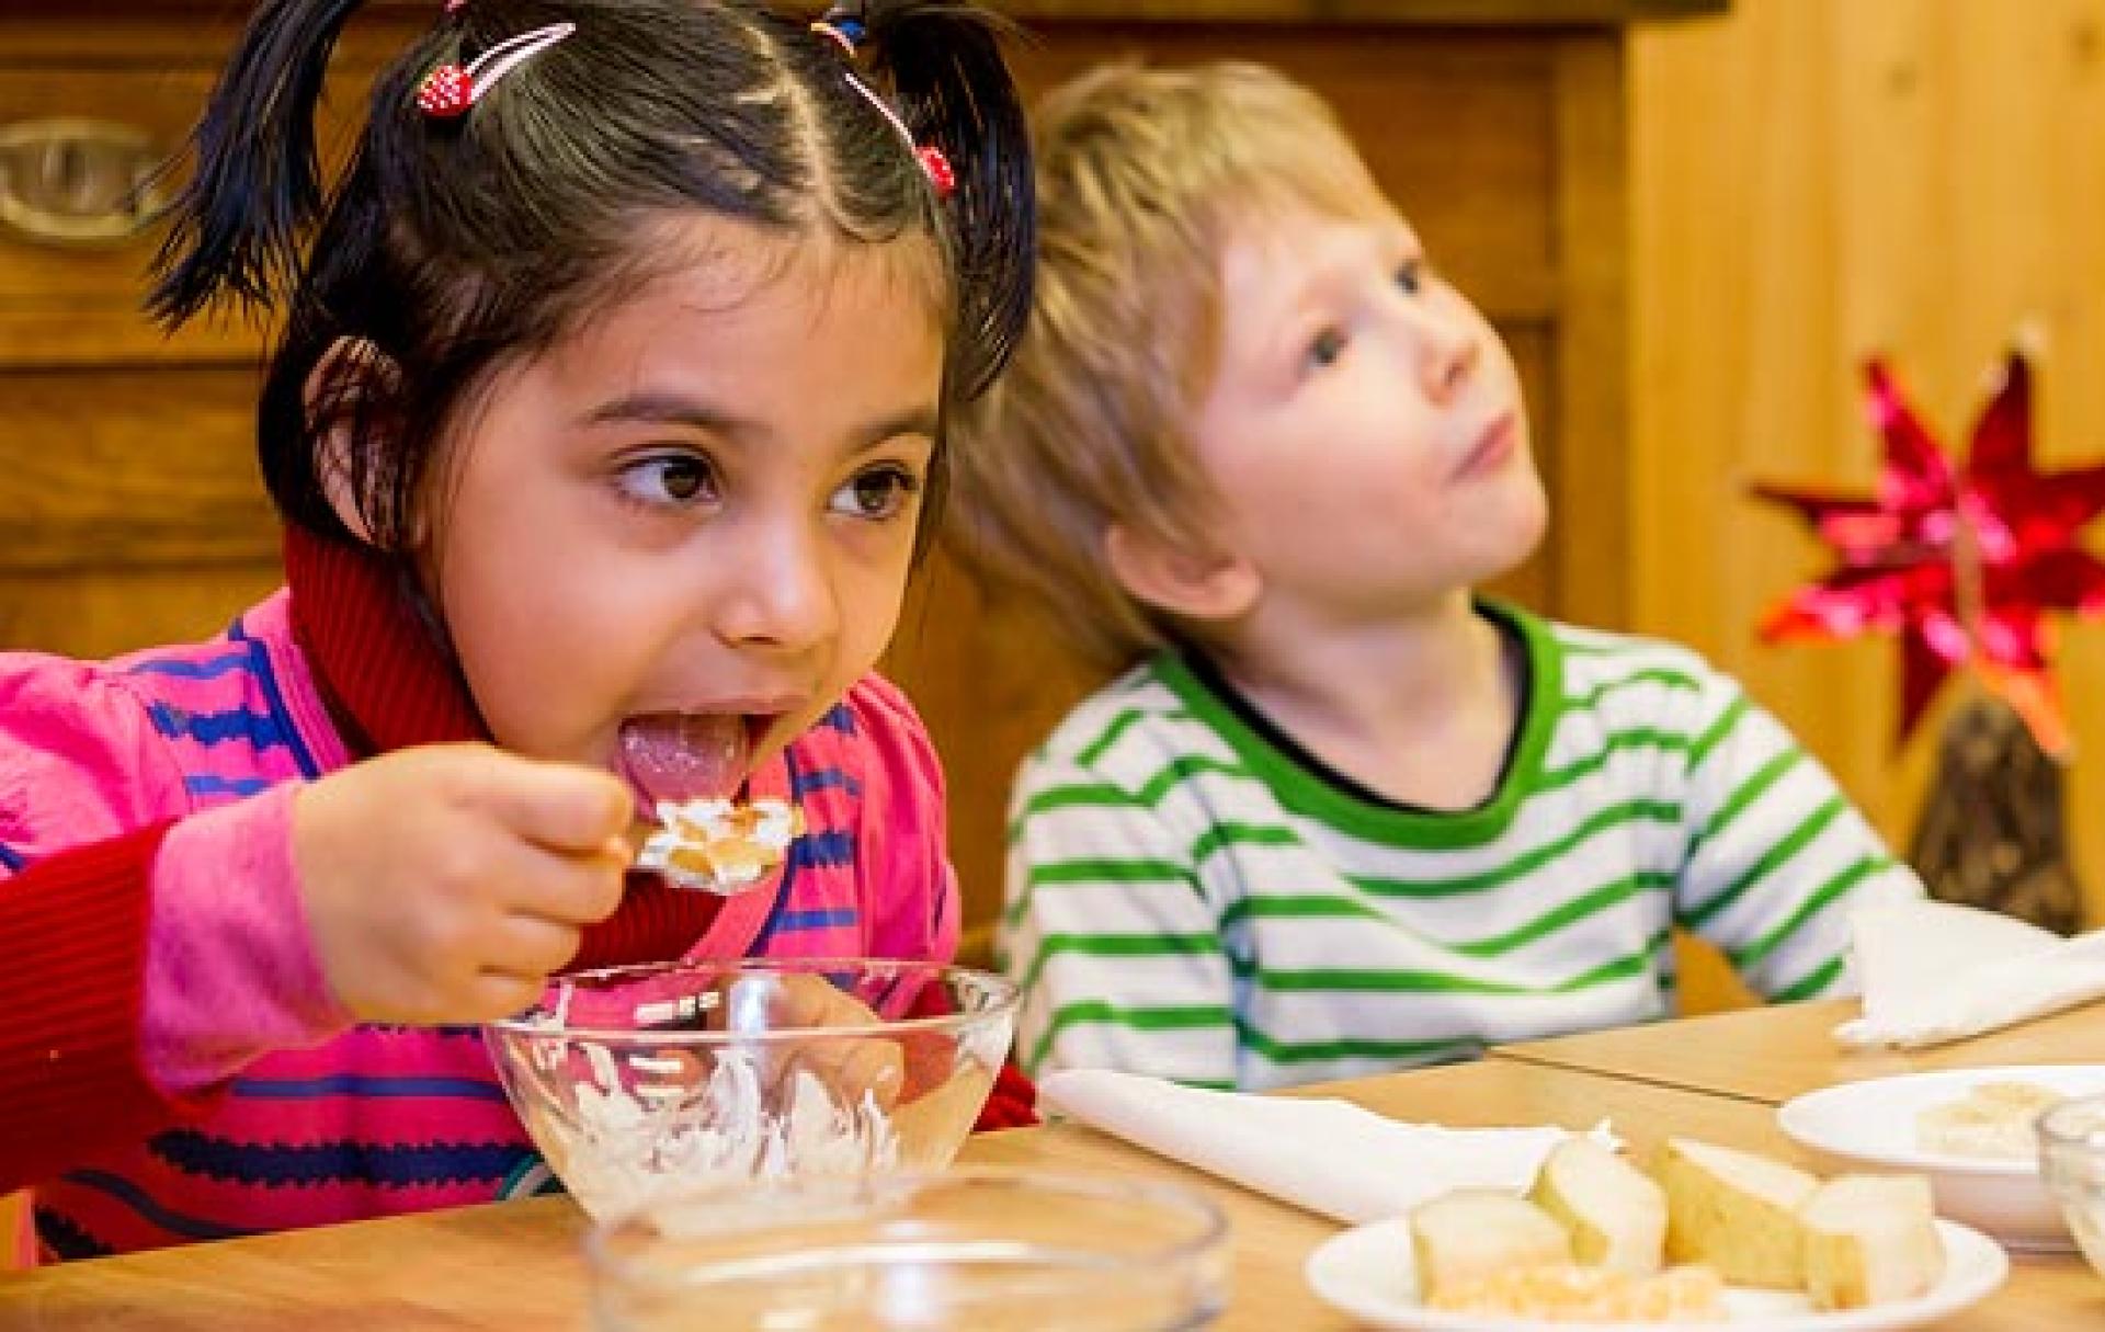
[{"label": "empty clear glass bowl in front, cut off by bottom edge", "polygon": [[1170,1332],[1227,1307],[1198,1193],[1004,1170],[661,1199],[585,1239],[602,1332]]}]

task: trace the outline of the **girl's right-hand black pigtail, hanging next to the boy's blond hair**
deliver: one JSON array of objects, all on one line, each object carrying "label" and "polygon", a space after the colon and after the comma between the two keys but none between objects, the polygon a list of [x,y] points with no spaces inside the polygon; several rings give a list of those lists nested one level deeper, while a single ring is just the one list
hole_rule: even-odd
[{"label": "girl's right-hand black pigtail, hanging next to the boy's blond hair", "polygon": [[977,398],[1008,364],[1031,309],[1036,183],[1029,128],[1000,40],[1013,27],[968,4],[871,0],[871,69],[918,143],[943,149],[958,246],[956,387]]}]

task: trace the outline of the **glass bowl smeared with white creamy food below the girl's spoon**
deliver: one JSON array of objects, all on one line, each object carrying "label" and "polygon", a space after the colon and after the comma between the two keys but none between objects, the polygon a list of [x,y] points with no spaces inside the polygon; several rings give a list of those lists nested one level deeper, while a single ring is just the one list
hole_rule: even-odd
[{"label": "glass bowl smeared with white creamy food below the girl's spoon", "polygon": [[558,976],[484,1035],[594,1216],[716,1183],[939,1170],[1015,1029],[1006,978],[935,962],[669,962]]}]

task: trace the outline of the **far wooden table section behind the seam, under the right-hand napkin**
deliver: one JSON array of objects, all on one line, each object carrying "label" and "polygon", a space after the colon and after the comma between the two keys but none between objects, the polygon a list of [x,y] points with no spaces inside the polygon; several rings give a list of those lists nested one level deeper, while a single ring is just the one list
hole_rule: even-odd
[{"label": "far wooden table section behind the seam, under the right-hand napkin", "polygon": [[1747,1008],[1501,1046],[1495,1056],[1764,1105],[1783,1105],[1838,1082],[1922,1069],[2105,1063],[2105,1002],[1928,1050],[1844,1050],[1831,1031],[1855,1014],[1855,1000]]}]

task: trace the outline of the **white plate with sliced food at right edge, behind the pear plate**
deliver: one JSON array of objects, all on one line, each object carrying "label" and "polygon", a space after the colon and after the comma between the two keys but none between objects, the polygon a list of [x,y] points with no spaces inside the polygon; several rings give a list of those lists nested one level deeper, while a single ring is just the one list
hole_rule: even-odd
[{"label": "white plate with sliced food at right edge, behind the pear plate", "polygon": [[2105,1092],[2105,1065],[1998,1065],[1903,1073],[1821,1088],[1777,1122],[1827,1170],[1924,1174],[1937,1214],[2010,1248],[2073,1248],[2040,1183],[2033,1122],[2065,1096]]}]

